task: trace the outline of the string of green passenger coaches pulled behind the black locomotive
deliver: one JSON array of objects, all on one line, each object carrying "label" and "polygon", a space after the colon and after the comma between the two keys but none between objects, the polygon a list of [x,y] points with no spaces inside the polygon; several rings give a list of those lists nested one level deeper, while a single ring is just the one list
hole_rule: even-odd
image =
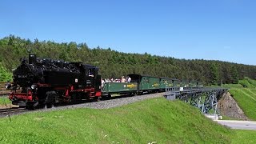
[{"label": "string of green passenger coaches pulled behind the black locomotive", "polygon": [[129,74],[128,76],[131,78],[131,82],[105,82],[102,86],[102,95],[106,97],[110,97],[111,94],[134,95],[163,92],[166,88],[183,90],[202,86],[202,82],[174,78],[159,78],[141,74]]}]

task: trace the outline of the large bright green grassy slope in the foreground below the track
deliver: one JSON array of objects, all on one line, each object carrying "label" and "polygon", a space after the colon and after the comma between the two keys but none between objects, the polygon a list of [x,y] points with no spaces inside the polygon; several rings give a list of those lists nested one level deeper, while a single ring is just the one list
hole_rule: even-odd
[{"label": "large bright green grassy slope in the foreground below the track", "polygon": [[109,110],[56,110],[0,119],[0,143],[230,143],[233,130],[184,102],[154,98]]}]

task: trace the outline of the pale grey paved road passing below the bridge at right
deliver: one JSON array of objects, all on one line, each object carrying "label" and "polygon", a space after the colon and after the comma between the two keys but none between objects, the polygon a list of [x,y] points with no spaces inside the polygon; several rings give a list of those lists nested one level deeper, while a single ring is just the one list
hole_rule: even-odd
[{"label": "pale grey paved road passing below the bridge at right", "polygon": [[256,130],[256,122],[250,121],[226,121],[226,120],[215,120],[223,126],[229,126],[231,129],[237,130]]}]

